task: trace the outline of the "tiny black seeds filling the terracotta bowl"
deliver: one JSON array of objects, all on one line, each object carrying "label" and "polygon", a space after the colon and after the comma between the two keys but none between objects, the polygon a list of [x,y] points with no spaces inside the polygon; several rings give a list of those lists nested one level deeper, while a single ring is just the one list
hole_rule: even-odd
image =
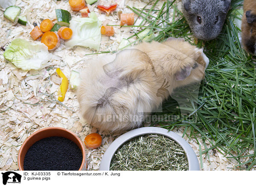
[{"label": "tiny black seeds filling the terracotta bowl", "polygon": [[25,171],[78,171],[82,163],[79,147],[65,137],[47,137],[35,142],[24,158]]}]

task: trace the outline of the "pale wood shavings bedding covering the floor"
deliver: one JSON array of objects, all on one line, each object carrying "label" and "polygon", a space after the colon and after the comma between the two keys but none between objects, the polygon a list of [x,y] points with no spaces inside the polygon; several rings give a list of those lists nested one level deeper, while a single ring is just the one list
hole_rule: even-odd
[{"label": "pale wood shavings bedding covering the floor", "polygon": [[[99,0],[96,4],[108,6],[118,3],[116,11],[130,13],[131,10],[126,7],[136,6],[143,8],[148,0]],[[163,1],[157,4],[160,9]],[[177,1],[180,7],[180,1]],[[119,19],[117,14],[106,16],[101,14],[96,8],[96,4],[88,5],[90,12],[96,12],[99,19],[104,24],[118,25]],[[0,11],[0,45],[6,46],[15,38],[23,38],[27,41],[33,41],[29,35],[32,23],[41,23],[43,19],[55,19],[55,9],[61,8],[69,11],[72,17],[80,17],[79,12],[73,12],[66,0],[17,0],[16,6],[20,6],[21,15],[27,15],[27,26],[20,24],[14,25],[3,18],[3,11]],[[142,19],[139,19],[135,25],[138,25]],[[128,38],[132,35],[131,30],[136,27],[114,26],[115,35],[113,37],[102,36],[100,51],[115,51],[119,46],[122,38]],[[132,40],[131,40],[132,41]],[[3,50],[0,50],[0,170],[17,170],[17,153],[20,145],[33,132],[46,127],[63,127],[76,133],[82,140],[87,134],[97,132],[91,128],[79,115],[79,104],[76,99],[76,93],[68,90],[64,102],[57,102],[58,87],[61,79],[56,76],[55,70],[59,67],[61,71],[70,78],[71,70],[80,72],[86,66],[86,61],[96,57],[91,54],[93,51],[87,48],[74,47],[66,49],[64,41],[52,52],[53,57],[42,70],[23,71],[17,69],[11,63],[3,58]],[[175,128],[173,131],[182,135],[183,128]],[[189,131],[187,131],[189,134]],[[94,150],[86,150],[88,160],[88,170],[98,170],[102,156],[108,146],[116,138],[114,136],[102,135],[102,146]],[[195,139],[185,139],[189,142],[200,162],[200,151],[205,147],[209,148],[210,144],[200,144]],[[224,153],[209,151],[208,154],[202,155],[201,170],[228,170],[228,167],[235,168],[237,162],[224,157]],[[246,161],[246,158],[245,160]]]}]

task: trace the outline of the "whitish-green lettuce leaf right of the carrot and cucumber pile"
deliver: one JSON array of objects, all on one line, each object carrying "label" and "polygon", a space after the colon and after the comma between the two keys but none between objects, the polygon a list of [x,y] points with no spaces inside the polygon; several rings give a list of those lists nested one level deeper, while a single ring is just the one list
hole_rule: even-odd
[{"label": "whitish-green lettuce leaf right of the carrot and cucumber pile", "polygon": [[72,38],[65,42],[66,46],[83,46],[99,50],[101,42],[101,24],[94,12],[89,17],[76,17],[70,20]]}]

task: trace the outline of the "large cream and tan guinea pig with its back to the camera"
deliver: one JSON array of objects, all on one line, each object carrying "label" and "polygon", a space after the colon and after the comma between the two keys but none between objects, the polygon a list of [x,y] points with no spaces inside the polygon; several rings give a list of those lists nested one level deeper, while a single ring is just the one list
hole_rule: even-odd
[{"label": "large cream and tan guinea pig with its back to the camera", "polygon": [[94,58],[81,72],[77,90],[81,115],[100,131],[138,128],[141,119],[127,116],[150,113],[175,88],[200,82],[208,63],[203,49],[176,39],[141,43]]}]

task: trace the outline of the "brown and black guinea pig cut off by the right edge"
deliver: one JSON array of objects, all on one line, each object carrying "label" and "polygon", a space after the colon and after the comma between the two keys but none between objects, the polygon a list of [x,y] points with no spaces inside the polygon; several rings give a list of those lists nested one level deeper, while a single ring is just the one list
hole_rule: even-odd
[{"label": "brown and black guinea pig cut off by the right edge", "polygon": [[244,0],[241,31],[244,49],[256,54],[256,0]]}]

